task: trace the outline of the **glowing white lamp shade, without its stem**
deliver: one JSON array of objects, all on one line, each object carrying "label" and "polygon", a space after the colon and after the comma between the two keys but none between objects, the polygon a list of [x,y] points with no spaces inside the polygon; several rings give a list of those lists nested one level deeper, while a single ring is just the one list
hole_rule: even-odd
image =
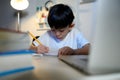
[{"label": "glowing white lamp shade, without its stem", "polygon": [[28,0],[11,0],[10,5],[16,10],[24,10],[29,6]]}]

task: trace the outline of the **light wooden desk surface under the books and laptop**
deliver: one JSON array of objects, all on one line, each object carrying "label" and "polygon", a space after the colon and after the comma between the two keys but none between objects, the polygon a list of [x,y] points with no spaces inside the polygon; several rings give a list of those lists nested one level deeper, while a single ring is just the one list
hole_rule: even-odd
[{"label": "light wooden desk surface under the books and laptop", "polygon": [[34,70],[1,77],[0,80],[120,80],[119,74],[86,76],[54,56],[33,56]]}]

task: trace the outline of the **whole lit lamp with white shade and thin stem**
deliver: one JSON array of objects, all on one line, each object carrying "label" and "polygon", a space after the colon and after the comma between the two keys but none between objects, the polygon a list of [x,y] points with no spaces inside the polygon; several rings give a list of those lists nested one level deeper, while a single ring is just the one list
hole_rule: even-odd
[{"label": "whole lit lamp with white shade and thin stem", "polygon": [[28,0],[11,0],[10,5],[18,10],[17,16],[18,16],[18,31],[20,30],[20,11],[25,10],[29,6]]}]

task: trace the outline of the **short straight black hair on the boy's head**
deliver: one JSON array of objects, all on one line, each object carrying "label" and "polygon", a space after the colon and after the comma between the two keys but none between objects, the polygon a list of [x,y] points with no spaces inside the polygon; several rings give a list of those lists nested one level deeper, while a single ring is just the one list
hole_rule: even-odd
[{"label": "short straight black hair on the boy's head", "polygon": [[51,28],[65,28],[73,22],[73,19],[74,14],[68,5],[56,4],[50,8],[48,24]]}]

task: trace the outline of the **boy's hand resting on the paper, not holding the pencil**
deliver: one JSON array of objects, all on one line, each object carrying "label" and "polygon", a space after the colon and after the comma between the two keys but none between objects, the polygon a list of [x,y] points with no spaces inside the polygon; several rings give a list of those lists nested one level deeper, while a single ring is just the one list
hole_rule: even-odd
[{"label": "boy's hand resting on the paper, not holding the pencil", "polygon": [[59,49],[58,51],[58,55],[72,55],[72,54],[74,54],[74,49],[67,46]]}]

